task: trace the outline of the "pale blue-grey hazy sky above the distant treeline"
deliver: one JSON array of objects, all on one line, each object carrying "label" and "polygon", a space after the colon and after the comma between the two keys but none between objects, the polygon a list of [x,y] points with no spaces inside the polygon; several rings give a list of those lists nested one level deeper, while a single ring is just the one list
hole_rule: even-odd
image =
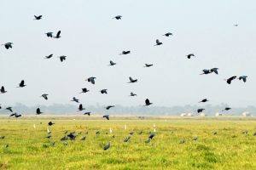
[{"label": "pale blue-grey hazy sky above the distant treeline", "polygon": [[[73,97],[84,105],[144,105],[147,98],[157,106],[198,105],[204,98],[212,105],[256,105],[253,0],[0,2],[0,43],[14,42],[12,49],[0,47],[0,86],[8,91],[0,94],[2,105],[73,104]],[[59,30],[60,39],[44,34]],[[155,47],[156,39],[163,45]],[[123,50],[131,54],[119,55]],[[54,57],[44,59],[49,54]],[[108,66],[110,59],[117,65]],[[218,75],[200,75],[212,67]],[[224,82],[235,75],[247,75],[247,82]],[[138,82],[127,83],[129,77]],[[21,80],[26,88],[16,88]],[[90,93],[79,94],[81,88]],[[99,93],[103,88],[108,95]],[[137,97],[128,97],[131,92]]]}]

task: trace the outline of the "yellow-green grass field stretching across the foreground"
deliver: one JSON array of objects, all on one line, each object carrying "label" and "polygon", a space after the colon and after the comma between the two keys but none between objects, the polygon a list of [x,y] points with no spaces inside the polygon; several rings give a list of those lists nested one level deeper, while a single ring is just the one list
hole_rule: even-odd
[{"label": "yellow-green grass field stretching across the foreground", "polygon": [[[55,125],[47,139],[46,118],[1,119],[0,169],[256,169],[254,121],[50,120]],[[154,123],[156,135],[146,144]],[[66,130],[81,134],[65,146],[60,139]],[[125,143],[130,132],[134,134]],[[110,149],[103,150],[109,141]]]}]

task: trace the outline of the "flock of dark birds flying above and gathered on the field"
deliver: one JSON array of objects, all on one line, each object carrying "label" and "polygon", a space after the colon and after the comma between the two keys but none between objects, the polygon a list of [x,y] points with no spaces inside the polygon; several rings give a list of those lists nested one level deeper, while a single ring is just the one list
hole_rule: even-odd
[{"label": "flock of dark birds flying above and gathered on the field", "polygon": [[[42,19],[43,19],[43,15],[38,15],[38,16],[34,15],[34,20],[42,20]],[[121,16],[121,15],[117,15],[117,16],[113,17],[113,19],[115,19],[115,20],[121,20],[121,19],[122,19],[122,16]],[[238,25],[234,25],[234,26],[238,26]],[[49,38],[56,38],[56,39],[61,38],[61,31],[57,31],[55,34],[54,34],[54,32],[47,32],[47,33],[45,33],[45,34],[46,34],[46,36],[49,37]],[[165,36],[165,37],[171,37],[171,36],[173,36],[173,34],[172,34],[171,32],[167,32],[167,33],[163,34],[163,36]],[[13,43],[13,42],[6,42],[6,43],[4,43],[4,44],[2,44],[2,45],[4,46],[4,48],[10,49],[10,48],[13,48],[14,43]],[[160,45],[163,45],[163,42],[160,42],[159,39],[156,39],[154,46],[160,46]],[[130,51],[130,50],[127,50],[127,51],[124,50],[124,51],[122,51],[122,52],[120,53],[120,55],[127,55],[127,54],[131,54],[131,51]],[[51,59],[52,57],[53,57],[53,54],[49,54],[48,56],[45,56],[44,59]],[[188,55],[186,55],[186,57],[187,57],[188,59],[192,59],[193,57],[196,57],[196,56],[195,56],[195,54],[188,54]],[[59,58],[60,58],[61,62],[64,62],[64,61],[67,59],[67,56],[61,55]],[[117,65],[117,63],[113,62],[113,60],[110,60],[110,61],[109,61],[109,66],[114,66],[114,65]],[[144,65],[144,67],[151,67],[151,66],[154,66],[154,65],[153,65],[153,64],[145,64],[145,65]],[[218,68],[204,69],[204,70],[202,70],[201,75],[208,75],[208,74],[212,74],[213,72],[218,75]],[[231,82],[233,82],[233,81],[236,80],[236,79],[242,80],[243,82],[247,82],[247,76],[240,76],[240,77],[232,76],[232,77],[229,77],[229,78],[224,79],[224,80],[225,80],[228,84],[231,84]],[[86,79],[86,81],[87,81],[87,82],[90,82],[91,84],[95,84],[95,83],[96,83],[96,77],[89,77],[89,78]],[[129,82],[128,82],[128,83],[136,83],[136,82],[138,82],[138,80],[137,80],[136,78],[129,77]],[[25,88],[25,87],[26,87],[26,83],[25,83],[24,80],[22,80],[22,81],[19,83],[19,85],[18,85],[17,88]],[[89,91],[90,91],[90,90],[89,90],[88,88],[82,88],[82,92],[80,92],[80,94],[85,94],[85,93],[88,93]],[[7,93],[7,90],[6,90],[6,88],[5,88],[4,86],[1,87],[0,93],[1,93],[1,94]],[[108,94],[108,89],[102,89],[102,90],[100,90],[100,93],[101,93],[101,94]],[[136,96],[136,95],[137,95],[137,94],[134,94],[133,92],[131,92],[131,94],[130,94],[131,97]],[[42,94],[41,97],[44,98],[45,100],[47,100],[47,99],[49,99],[49,94]],[[72,99],[71,101],[76,102],[76,103],[79,103],[79,99],[77,99],[77,98],[75,98],[75,97],[73,97],[73,99]],[[205,103],[205,102],[208,102],[208,101],[209,101],[208,99],[202,99],[199,103]],[[153,103],[151,103],[151,102],[149,101],[149,99],[145,99],[145,106],[148,106],[148,105],[153,105]],[[106,110],[110,110],[110,109],[113,108],[114,106],[115,106],[115,105],[107,105],[107,106],[105,107],[105,109],[106,109]],[[0,109],[2,109],[1,105],[0,105]],[[13,110],[12,110],[12,107],[7,107],[7,108],[5,108],[5,109],[11,112],[11,115],[10,115],[10,116],[15,116],[15,117],[20,117],[20,116],[21,116],[21,114],[18,114],[18,113],[16,113],[16,112],[14,113]],[[224,108],[223,111],[229,111],[230,109],[231,109],[230,107],[226,107],[226,108]],[[85,110],[84,106],[83,106],[82,104],[79,104],[79,111],[84,111],[84,110]],[[197,112],[197,113],[201,113],[201,112],[204,111],[204,110],[205,110],[204,108],[200,108],[200,109],[198,109],[196,112]],[[38,109],[36,110],[36,114],[37,114],[37,115],[41,115],[41,114],[43,114],[43,113],[44,113],[44,112],[42,112],[42,111],[40,110],[40,108],[38,108]],[[90,116],[90,115],[91,115],[91,112],[90,112],[90,111],[86,111],[86,112],[84,112],[84,115]],[[110,119],[109,117],[110,117],[109,115],[104,115],[104,116],[102,116],[102,118],[106,118],[107,120]],[[53,122],[49,122],[49,126],[51,126],[51,125],[53,125],[53,124],[54,124]],[[50,132],[50,131],[49,131],[49,129],[48,129],[48,133],[49,133],[49,132]],[[65,133],[65,134],[66,134],[66,133]],[[150,133],[150,135],[149,135],[149,137],[148,137],[148,139],[147,139],[146,142],[149,143],[150,140],[154,138],[154,135],[155,135],[155,133]],[[50,137],[51,137],[51,136],[48,136],[48,138],[50,138]],[[65,136],[65,138],[63,138],[63,139],[61,139],[61,140],[65,140],[65,139],[68,139],[68,138],[69,138],[69,139],[75,139],[75,137],[76,137],[76,135],[75,135],[75,133],[73,132],[73,133],[69,133],[67,136]],[[129,137],[127,137],[127,138],[125,139],[125,141],[128,141],[129,139],[131,139],[131,135],[130,135]],[[195,140],[196,140],[196,139],[195,139]],[[108,143],[108,144],[104,147],[104,150],[108,150],[109,147],[110,147],[110,143]]]}]

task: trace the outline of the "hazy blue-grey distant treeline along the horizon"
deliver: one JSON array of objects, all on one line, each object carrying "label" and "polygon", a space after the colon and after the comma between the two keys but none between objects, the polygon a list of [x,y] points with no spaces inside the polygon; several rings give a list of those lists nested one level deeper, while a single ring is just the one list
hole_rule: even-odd
[{"label": "hazy blue-grey distant treeline along the horizon", "polygon": [[183,105],[183,106],[150,106],[145,107],[143,105],[137,106],[123,106],[123,105],[115,105],[114,108],[110,110],[106,110],[103,105],[88,105],[84,106],[86,108],[85,111],[78,111],[78,106],[76,105],[34,105],[27,106],[20,103],[15,105],[2,105],[2,109],[0,110],[0,114],[9,114],[10,112],[5,110],[5,107],[11,106],[14,112],[24,114],[24,115],[32,115],[36,114],[36,110],[39,107],[43,114],[51,115],[51,114],[79,114],[83,115],[84,112],[90,111],[91,115],[133,115],[133,116],[177,116],[182,113],[193,113],[196,114],[196,110],[199,108],[204,108],[205,111],[203,113],[207,115],[215,115],[217,112],[223,113],[224,115],[241,115],[243,112],[256,112],[255,106],[247,106],[247,107],[236,107],[232,108],[230,111],[223,111],[225,107],[228,105],[205,105],[204,107],[200,107],[198,105]]}]

